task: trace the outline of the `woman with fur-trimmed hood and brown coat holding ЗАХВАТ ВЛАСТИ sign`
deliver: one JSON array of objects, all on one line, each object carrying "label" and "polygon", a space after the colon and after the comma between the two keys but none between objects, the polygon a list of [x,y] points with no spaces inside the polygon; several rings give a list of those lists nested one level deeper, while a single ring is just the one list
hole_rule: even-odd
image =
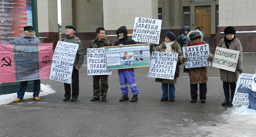
[{"label": "woman with fur-trimmed hood and brown coat holding \u0417\u0410\u0425\u0412\u0410\u0422 \u0412\u041b\u0410\u0421\u0422\u0418 sign", "polygon": [[[200,31],[191,31],[187,34],[187,43],[185,46],[194,46],[194,45],[201,45],[206,44],[205,41],[203,41],[203,35]],[[208,61],[212,60],[212,57],[207,58]],[[183,62],[187,62],[188,59],[183,57]],[[198,68],[189,68],[188,69],[189,74],[189,80],[190,80],[190,95],[191,95],[191,101],[190,103],[196,103],[198,94],[198,84],[200,85],[199,92],[200,92],[200,100],[201,103],[205,103],[206,99],[206,81],[208,81],[208,67],[198,67]]]}]

